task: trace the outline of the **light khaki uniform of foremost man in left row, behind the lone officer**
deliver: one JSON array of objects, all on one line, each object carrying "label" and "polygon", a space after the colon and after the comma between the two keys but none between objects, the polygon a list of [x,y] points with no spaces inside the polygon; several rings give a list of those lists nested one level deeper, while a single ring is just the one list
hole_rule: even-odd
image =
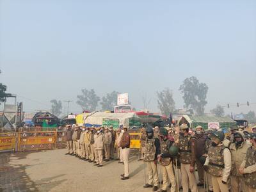
[{"label": "light khaki uniform of foremost man in left row, behind the lone officer", "polygon": [[103,134],[94,135],[94,148],[95,148],[95,160],[97,164],[103,164],[103,148],[104,148],[104,138]]}]

